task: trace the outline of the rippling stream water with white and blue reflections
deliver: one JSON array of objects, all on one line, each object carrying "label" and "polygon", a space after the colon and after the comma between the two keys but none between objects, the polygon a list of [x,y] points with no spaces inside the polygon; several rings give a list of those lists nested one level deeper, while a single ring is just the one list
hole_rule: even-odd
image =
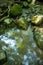
[{"label": "rippling stream water with white and blue reflections", "polygon": [[31,27],[27,31],[13,28],[0,35],[0,41],[8,54],[9,61],[5,65],[42,65],[43,60],[35,51],[37,45]]}]

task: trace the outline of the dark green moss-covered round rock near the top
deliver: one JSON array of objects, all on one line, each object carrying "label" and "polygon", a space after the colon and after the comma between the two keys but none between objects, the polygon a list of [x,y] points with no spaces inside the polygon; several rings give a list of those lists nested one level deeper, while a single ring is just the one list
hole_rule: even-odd
[{"label": "dark green moss-covered round rock near the top", "polygon": [[22,14],[22,7],[18,4],[14,4],[10,10],[10,15],[18,16]]}]

